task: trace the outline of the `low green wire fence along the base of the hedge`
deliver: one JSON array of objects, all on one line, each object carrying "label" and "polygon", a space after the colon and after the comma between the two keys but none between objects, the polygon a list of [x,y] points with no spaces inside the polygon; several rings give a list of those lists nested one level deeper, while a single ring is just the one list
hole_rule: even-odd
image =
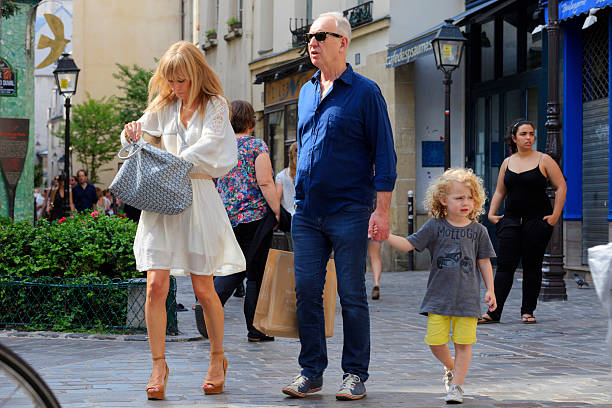
[{"label": "low green wire fence along the base of the hedge", "polygon": [[[0,328],[139,333],[146,279],[0,276]],[[176,279],[166,300],[167,334],[178,334]]]}]

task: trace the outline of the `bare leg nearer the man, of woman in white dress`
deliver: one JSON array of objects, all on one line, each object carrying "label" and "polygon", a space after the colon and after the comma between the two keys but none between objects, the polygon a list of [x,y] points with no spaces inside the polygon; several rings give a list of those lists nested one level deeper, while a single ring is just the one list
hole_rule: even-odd
[{"label": "bare leg nearer the man, of woman in white dress", "polygon": [[[220,383],[225,378],[223,374],[223,306],[215,292],[212,276],[192,274],[191,283],[193,292],[204,309],[204,321],[210,340],[211,358],[205,382]],[[212,357],[213,355],[215,358]]]}]

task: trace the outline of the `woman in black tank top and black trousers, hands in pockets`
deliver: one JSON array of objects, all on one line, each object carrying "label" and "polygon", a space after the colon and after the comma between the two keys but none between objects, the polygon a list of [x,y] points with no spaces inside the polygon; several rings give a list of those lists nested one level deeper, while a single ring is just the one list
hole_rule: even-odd
[{"label": "woman in black tank top and black trousers, hands in pockets", "polygon": [[[491,199],[489,221],[495,224],[498,240],[495,297],[497,309],[482,316],[478,323],[499,322],[519,261],[523,265],[521,320],[535,323],[533,311],[542,286],[542,260],[554,225],[559,221],[567,185],[561,169],[547,154],[533,150],[535,126],[517,119],[510,126],[506,141],[512,155],[502,163],[497,188]],[[557,190],[554,208],[546,196],[548,182]],[[496,215],[502,200],[504,215]]]}]

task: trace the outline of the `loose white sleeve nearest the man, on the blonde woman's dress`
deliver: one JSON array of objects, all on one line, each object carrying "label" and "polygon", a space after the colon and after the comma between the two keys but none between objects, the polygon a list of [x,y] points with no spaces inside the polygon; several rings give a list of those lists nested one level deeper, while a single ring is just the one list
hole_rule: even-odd
[{"label": "loose white sleeve nearest the man, on the blonde woman's dress", "polygon": [[206,108],[202,134],[182,156],[212,177],[221,177],[238,162],[236,135],[230,126],[229,108],[220,98],[212,98]]}]

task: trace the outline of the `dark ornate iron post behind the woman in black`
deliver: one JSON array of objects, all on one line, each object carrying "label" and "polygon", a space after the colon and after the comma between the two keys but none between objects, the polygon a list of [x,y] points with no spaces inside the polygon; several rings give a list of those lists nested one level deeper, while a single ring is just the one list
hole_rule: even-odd
[{"label": "dark ornate iron post behind the woman in black", "polygon": [[[561,121],[559,113],[559,7],[548,1],[548,102],[546,103],[546,153],[558,164],[561,161]],[[548,185],[548,198],[554,202],[555,190]],[[555,225],[542,263],[540,300],[567,300],[563,269],[563,219]]]}]

